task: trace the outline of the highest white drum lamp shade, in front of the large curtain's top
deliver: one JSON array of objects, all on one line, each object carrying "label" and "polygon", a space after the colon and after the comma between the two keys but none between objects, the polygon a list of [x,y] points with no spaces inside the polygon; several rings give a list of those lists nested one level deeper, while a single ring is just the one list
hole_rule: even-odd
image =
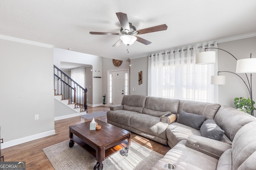
[{"label": "highest white drum lamp shade, in front of the large curtain's top", "polygon": [[212,64],[215,62],[215,51],[204,51],[196,54],[196,64]]}]

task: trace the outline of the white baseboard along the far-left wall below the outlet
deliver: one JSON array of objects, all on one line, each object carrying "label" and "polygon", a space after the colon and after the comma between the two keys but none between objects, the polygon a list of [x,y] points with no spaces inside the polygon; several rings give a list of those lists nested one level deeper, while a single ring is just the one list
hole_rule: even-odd
[{"label": "white baseboard along the far-left wall below the outlet", "polygon": [[43,132],[43,133],[38,133],[36,135],[31,135],[31,136],[28,136],[28,137],[23,137],[23,138],[20,138],[20,139],[14,139],[12,141],[7,141],[7,142],[2,143],[1,144],[1,149],[8,148],[8,147],[13,147],[13,146],[19,145],[21,143],[34,141],[36,139],[40,139],[40,138],[47,137],[47,136],[54,135],[54,134],[55,134],[55,130],[52,130],[52,131],[47,131],[47,132]]}]

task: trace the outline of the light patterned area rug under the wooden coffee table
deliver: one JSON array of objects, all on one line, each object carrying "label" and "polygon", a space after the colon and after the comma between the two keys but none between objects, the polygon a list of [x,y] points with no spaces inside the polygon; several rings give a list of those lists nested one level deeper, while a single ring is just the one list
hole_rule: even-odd
[{"label": "light patterned area rug under the wooden coffee table", "polygon": [[[97,160],[69,140],[43,149],[55,170],[93,170]],[[128,156],[116,152],[103,161],[103,170],[148,170],[164,155],[131,141]]]}]

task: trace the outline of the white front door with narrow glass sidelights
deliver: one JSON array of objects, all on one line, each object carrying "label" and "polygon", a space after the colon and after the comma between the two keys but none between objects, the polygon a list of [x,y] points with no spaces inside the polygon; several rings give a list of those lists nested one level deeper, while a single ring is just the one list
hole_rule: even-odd
[{"label": "white front door with narrow glass sidelights", "polygon": [[108,106],[122,104],[129,92],[129,69],[108,71]]}]

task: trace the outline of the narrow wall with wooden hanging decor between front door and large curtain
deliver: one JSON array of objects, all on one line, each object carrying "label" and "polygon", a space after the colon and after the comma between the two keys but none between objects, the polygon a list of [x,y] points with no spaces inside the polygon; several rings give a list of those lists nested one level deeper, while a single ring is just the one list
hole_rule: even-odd
[{"label": "narrow wall with wooden hanging decor between front door and large curtain", "polygon": [[[130,94],[148,96],[148,57],[131,60]],[[142,71],[142,84],[138,84],[138,73]],[[132,91],[135,88],[136,91]]]}]

